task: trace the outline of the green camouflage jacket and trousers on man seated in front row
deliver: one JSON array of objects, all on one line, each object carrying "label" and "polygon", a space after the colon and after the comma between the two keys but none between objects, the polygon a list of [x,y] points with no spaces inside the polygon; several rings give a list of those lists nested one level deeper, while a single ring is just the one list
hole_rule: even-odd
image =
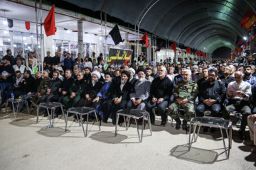
[{"label": "green camouflage jacket and trousers on man seated in front row", "polygon": [[[195,115],[194,103],[198,94],[198,85],[196,81],[189,80],[188,83],[185,81],[178,81],[174,89],[174,103],[172,103],[168,112],[171,118],[178,118],[178,109],[183,108],[185,111],[184,120],[190,121]],[[182,100],[187,98],[188,103],[179,104],[176,99],[181,98]]]}]

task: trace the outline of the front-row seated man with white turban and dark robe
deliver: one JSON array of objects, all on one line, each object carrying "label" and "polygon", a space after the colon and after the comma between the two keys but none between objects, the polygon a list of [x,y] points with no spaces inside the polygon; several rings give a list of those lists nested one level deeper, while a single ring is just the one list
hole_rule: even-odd
[{"label": "front-row seated man with white turban and dark robe", "polygon": [[100,73],[97,71],[94,71],[91,73],[92,75],[92,81],[87,85],[87,88],[85,89],[85,93],[82,94],[81,99],[79,101],[79,106],[86,106],[86,107],[92,107],[92,100],[95,99],[97,96],[97,93],[102,88],[102,82],[98,81],[100,79]]}]

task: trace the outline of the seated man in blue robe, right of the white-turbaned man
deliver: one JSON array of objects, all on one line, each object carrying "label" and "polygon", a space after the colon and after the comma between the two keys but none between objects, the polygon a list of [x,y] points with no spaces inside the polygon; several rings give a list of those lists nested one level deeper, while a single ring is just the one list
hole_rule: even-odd
[{"label": "seated man in blue robe, right of the white-turbaned man", "polygon": [[[99,93],[97,94],[96,98],[92,100],[92,108],[97,108],[96,112],[100,115],[100,118],[103,120],[104,123],[107,123],[107,119],[110,115],[104,113],[104,111],[111,110],[111,104],[106,104],[107,99],[111,96],[109,93],[110,86],[112,84],[112,73],[106,72],[105,73],[105,84],[100,89]],[[100,108],[98,107],[100,106]]]}]

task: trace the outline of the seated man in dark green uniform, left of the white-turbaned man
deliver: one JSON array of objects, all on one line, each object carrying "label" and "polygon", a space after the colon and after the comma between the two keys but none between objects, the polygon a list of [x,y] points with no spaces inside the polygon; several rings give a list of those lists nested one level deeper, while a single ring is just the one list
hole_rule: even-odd
[{"label": "seated man in dark green uniform, left of the white-turbaned man", "polygon": [[70,108],[72,105],[78,107],[78,101],[80,101],[81,94],[84,93],[87,86],[87,81],[84,79],[84,74],[78,72],[78,79],[75,79],[72,86],[69,89],[69,95],[63,98],[63,104],[66,109]]}]

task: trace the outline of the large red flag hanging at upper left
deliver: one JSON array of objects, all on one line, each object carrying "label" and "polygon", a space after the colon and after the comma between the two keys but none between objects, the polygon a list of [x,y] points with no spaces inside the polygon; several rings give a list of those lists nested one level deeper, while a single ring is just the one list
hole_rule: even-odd
[{"label": "large red flag hanging at upper left", "polygon": [[46,19],[43,23],[43,26],[46,31],[46,35],[55,35],[55,12],[54,12],[55,5],[50,9],[50,12],[48,13],[48,16],[46,16]]}]

